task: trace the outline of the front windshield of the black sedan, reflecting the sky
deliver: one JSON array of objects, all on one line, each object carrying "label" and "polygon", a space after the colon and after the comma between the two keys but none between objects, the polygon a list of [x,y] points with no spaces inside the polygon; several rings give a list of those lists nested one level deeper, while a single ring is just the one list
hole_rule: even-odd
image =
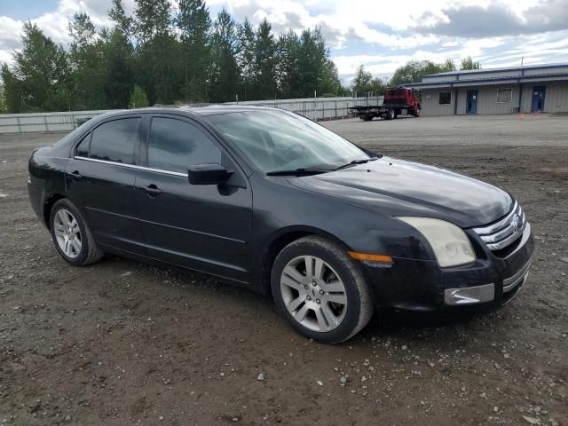
[{"label": "front windshield of the black sedan, reflecting the sky", "polygon": [[264,172],[333,170],[370,158],[333,131],[296,114],[244,111],[209,115],[207,119]]}]

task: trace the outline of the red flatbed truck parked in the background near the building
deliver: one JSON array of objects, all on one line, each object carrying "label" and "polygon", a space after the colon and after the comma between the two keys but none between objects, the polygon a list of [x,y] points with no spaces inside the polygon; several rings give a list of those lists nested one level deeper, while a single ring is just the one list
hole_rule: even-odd
[{"label": "red flatbed truck parked in the background near the building", "polygon": [[370,122],[375,117],[393,120],[398,115],[420,116],[418,92],[408,87],[390,87],[384,91],[383,105],[353,106],[351,114],[359,115],[361,120]]}]

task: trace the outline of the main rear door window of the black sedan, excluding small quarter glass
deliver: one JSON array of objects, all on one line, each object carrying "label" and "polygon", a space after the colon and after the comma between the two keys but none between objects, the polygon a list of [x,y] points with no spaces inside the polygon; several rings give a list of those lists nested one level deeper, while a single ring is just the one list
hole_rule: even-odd
[{"label": "main rear door window of the black sedan, excluding small quarter glass", "polygon": [[105,122],[93,130],[89,157],[106,162],[132,164],[140,119],[122,118]]}]

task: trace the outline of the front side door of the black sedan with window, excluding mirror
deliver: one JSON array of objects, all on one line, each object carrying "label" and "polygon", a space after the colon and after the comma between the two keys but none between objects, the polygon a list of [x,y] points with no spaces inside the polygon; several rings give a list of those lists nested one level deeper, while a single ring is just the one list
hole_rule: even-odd
[{"label": "front side door of the black sedan with window, excluding mirror", "polygon": [[[147,256],[233,280],[249,280],[252,193],[244,174],[207,130],[190,119],[154,115],[136,177]],[[221,163],[226,185],[190,185],[187,170]]]}]

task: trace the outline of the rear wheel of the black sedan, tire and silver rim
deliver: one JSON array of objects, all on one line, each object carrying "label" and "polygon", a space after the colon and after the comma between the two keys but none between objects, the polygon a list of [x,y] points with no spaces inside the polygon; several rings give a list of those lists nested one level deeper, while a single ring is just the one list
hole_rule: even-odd
[{"label": "rear wheel of the black sedan, tire and silver rim", "polygon": [[59,256],[68,264],[94,264],[105,254],[97,245],[79,209],[67,199],[57,201],[51,209],[50,232]]}]

